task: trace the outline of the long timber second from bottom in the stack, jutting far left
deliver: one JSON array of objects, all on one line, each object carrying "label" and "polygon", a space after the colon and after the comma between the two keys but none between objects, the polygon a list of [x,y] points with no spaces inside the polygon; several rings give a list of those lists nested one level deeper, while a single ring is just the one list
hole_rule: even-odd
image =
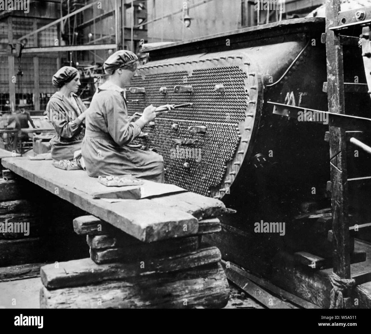
[{"label": "long timber second from bottom in the stack, jutting far left", "polygon": [[110,263],[95,264],[92,259],[80,259],[59,262],[59,268],[54,264],[41,268],[41,280],[48,290],[72,286],[96,284],[107,280],[124,280],[128,277],[161,274],[199,267],[219,262],[221,255],[216,247],[197,249],[193,252],[148,259],[144,268],[140,262],[131,264]]}]

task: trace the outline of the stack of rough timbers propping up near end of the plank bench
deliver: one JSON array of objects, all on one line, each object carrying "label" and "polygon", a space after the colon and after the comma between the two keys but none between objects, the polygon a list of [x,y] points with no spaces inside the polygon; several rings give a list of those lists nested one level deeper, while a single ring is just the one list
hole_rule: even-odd
[{"label": "stack of rough timbers propping up near end of the plank bench", "polygon": [[[177,195],[163,196],[160,201],[167,198],[170,205],[171,196]],[[40,291],[40,306],[224,307],[229,299],[229,287],[220,264],[220,251],[200,243],[201,235],[220,231],[215,216],[221,209],[221,206],[206,209],[198,205],[196,210],[188,203],[185,210],[199,219],[196,231],[181,237],[170,234],[169,238],[153,242],[140,241],[95,216],[76,218],[75,232],[86,235],[91,258],[42,267],[44,286]]]}]

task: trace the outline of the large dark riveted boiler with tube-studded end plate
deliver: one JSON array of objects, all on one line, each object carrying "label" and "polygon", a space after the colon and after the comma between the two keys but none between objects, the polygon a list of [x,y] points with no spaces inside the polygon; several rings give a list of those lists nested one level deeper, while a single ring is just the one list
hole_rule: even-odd
[{"label": "large dark riveted boiler with tube-studded end plate", "polygon": [[[293,19],[145,49],[150,62],[127,91],[129,112],[193,103],[156,118],[138,139],[164,156],[167,182],[237,210],[249,206],[255,216],[321,201],[329,180],[328,126],[275,115],[267,102],[327,110],[323,31],[322,18]],[[367,85],[352,85],[366,83],[357,50],[344,46],[354,64],[344,70],[345,103],[354,115],[368,116],[370,97],[359,90]],[[200,158],[174,158],[177,146],[198,150]],[[362,176],[367,159],[350,164],[349,175]]]}]

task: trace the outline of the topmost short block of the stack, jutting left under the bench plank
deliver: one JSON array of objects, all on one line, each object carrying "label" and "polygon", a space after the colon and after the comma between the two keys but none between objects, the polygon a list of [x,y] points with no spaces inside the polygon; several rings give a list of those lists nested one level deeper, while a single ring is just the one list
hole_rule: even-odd
[{"label": "topmost short block of the stack, jutting left under the bench plank", "polygon": [[95,216],[81,216],[73,219],[73,229],[77,234],[107,235],[121,232],[111,224],[108,224]]}]

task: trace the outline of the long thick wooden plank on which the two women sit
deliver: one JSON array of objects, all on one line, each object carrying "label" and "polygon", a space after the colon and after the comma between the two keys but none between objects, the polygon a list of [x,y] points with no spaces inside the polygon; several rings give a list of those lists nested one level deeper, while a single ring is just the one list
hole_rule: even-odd
[{"label": "long thick wooden plank on which the two women sit", "polygon": [[[125,200],[116,203],[93,199],[91,195],[77,189],[82,178],[88,178],[89,182],[92,180],[84,171],[62,171],[54,167],[50,169],[48,161],[30,163],[24,158],[6,158],[2,160],[2,163],[14,173],[141,241],[151,242],[182,237],[195,234],[198,230],[198,222],[194,216],[149,199]],[[61,172],[64,173],[60,174]],[[74,172],[79,172],[76,180],[72,179]],[[66,178],[66,175],[70,177]],[[185,226],[187,229],[184,228]]]}]

